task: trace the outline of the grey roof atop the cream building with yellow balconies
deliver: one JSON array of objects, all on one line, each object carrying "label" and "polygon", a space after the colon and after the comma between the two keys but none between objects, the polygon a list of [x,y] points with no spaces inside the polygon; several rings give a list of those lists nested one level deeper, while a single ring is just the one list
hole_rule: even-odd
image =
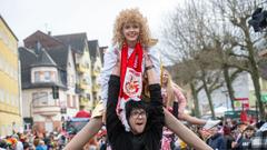
[{"label": "grey roof atop the cream building with yellow balconies", "polygon": [[75,52],[83,53],[83,50],[86,47],[86,41],[87,41],[86,32],[53,36],[53,38],[63,42],[66,46],[71,46],[71,48],[75,50]]}]

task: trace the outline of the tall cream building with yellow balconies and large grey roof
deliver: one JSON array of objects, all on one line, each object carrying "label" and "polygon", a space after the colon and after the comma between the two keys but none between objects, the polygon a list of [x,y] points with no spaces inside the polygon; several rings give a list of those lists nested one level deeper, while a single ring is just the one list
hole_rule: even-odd
[{"label": "tall cream building with yellow balconies and large grey roof", "polygon": [[85,106],[87,110],[92,110],[92,81],[91,81],[91,60],[86,33],[72,33],[53,36],[55,39],[61,41],[72,49],[76,76],[77,92],[80,96],[80,106]]}]

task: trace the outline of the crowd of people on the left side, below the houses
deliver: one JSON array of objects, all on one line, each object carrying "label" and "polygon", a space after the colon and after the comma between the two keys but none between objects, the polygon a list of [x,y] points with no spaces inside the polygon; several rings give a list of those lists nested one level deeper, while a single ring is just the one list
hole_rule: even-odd
[{"label": "crowd of people on the left side, below the houses", "polygon": [[[83,150],[106,150],[107,133],[100,130],[98,134],[91,138]],[[31,131],[17,132],[11,136],[0,138],[0,150],[62,150],[71,140],[70,134],[66,132],[50,132],[38,137]]]}]

